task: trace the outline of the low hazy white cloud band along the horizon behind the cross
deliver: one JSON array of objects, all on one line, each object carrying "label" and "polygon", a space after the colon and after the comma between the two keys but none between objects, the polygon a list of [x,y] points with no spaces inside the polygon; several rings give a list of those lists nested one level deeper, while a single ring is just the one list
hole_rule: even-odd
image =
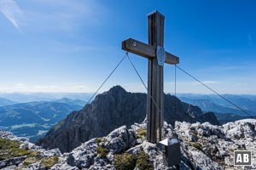
[{"label": "low hazy white cloud band along the horizon behind the cross", "polygon": [[[221,80],[216,81],[204,81],[214,91],[219,94],[256,94],[256,88],[253,86],[256,82],[255,79],[245,80],[236,79],[236,81]],[[94,93],[101,82],[85,83],[85,82],[64,82],[61,84],[29,84],[29,83],[11,83],[0,84],[0,93]],[[119,84],[125,88],[128,92],[142,92],[147,93],[147,90],[143,87],[141,82],[108,82],[99,91],[99,94],[108,91],[113,85]],[[147,85],[147,84],[146,84]],[[174,82],[164,83],[165,93],[174,94]],[[212,91],[205,88],[201,84],[195,81],[177,81],[177,94],[178,93],[191,93],[191,94],[213,94]]]}]

